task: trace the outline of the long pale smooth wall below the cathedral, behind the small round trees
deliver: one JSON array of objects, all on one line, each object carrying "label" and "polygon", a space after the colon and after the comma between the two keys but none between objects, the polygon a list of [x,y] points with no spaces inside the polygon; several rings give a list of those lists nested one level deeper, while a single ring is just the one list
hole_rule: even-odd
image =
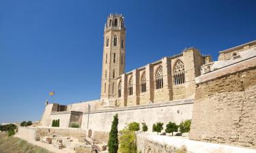
[{"label": "long pale smooth wall below the cathedral, behind the small round trees", "polygon": [[[89,129],[94,131],[110,131],[113,116],[118,114],[119,130],[130,122],[145,122],[152,131],[152,125],[156,122],[176,122],[180,124],[183,120],[192,118],[193,99],[179,101],[168,101],[93,111],[89,114]],[[88,113],[83,113],[82,129],[87,129]],[[164,125],[165,126],[165,125]]]}]

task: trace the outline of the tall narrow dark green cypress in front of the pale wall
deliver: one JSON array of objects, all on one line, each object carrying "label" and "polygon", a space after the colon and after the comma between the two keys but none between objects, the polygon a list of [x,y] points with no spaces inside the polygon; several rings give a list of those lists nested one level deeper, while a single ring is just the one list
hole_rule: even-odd
[{"label": "tall narrow dark green cypress in front of the pale wall", "polygon": [[109,133],[109,142],[108,142],[108,147],[109,147],[109,153],[117,153],[118,150],[118,115],[115,114],[114,119],[112,121],[111,125],[111,131]]}]

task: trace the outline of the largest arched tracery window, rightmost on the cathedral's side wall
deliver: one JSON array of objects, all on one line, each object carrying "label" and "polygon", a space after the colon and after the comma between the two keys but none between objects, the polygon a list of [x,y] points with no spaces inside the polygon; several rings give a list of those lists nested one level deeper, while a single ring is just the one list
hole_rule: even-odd
[{"label": "largest arched tracery window, rightmost on the cathedral's side wall", "polygon": [[184,69],[184,63],[180,60],[177,60],[174,66],[174,72],[173,72],[173,80],[174,84],[184,84],[185,83],[185,69]]}]

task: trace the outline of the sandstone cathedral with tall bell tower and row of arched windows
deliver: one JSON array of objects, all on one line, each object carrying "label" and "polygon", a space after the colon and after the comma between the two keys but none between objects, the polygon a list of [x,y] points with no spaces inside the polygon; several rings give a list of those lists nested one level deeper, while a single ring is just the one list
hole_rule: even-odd
[{"label": "sandstone cathedral with tall bell tower and row of arched windows", "polygon": [[126,27],[124,16],[111,14],[104,27],[100,103],[103,107],[126,107],[192,98],[201,66],[211,62],[196,48],[163,57],[125,72]]}]

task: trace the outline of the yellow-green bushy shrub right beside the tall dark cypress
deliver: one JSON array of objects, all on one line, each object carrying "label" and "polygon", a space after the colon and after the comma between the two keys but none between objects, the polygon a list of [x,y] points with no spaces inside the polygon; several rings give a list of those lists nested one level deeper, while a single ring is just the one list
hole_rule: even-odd
[{"label": "yellow-green bushy shrub right beside the tall dark cypress", "polygon": [[124,129],[121,131],[120,148],[122,153],[137,153],[136,135],[134,131]]}]

